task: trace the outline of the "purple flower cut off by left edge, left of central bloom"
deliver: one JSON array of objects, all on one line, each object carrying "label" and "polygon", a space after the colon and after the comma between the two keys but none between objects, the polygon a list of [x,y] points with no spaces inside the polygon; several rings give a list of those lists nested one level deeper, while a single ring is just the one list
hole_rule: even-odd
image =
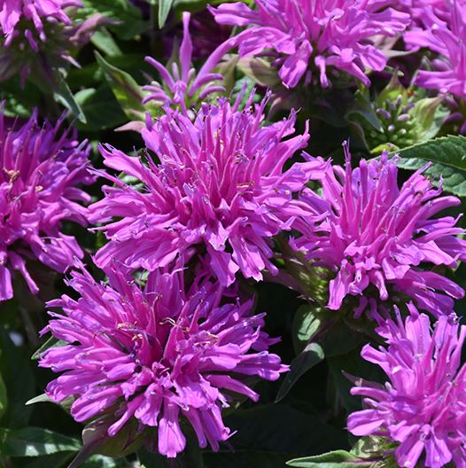
[{"label": "purple flower cut off by left edge, left of central bloom", "polygon": [[35,281],[27,260],[39,260],[60,272],[82,257],[76,239],[61,232],[65,220],[87,224],[87,193],[77,187],[91,183],[90,146],[76,135],[60,136],[60,119],[42,127],[34,113],[23,126],[6,127],[0,114],[0,301],[11,299],[12,272],[18,270],[31,292]]}]

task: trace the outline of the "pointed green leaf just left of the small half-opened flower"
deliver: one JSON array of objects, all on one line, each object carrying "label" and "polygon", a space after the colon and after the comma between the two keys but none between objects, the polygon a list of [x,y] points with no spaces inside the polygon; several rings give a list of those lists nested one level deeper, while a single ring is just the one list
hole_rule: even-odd
[{"label": "pointed green leaf just left of the small half-opened flower", "polygon": [[144,120],[144,95],[136,80],[130,74],[110,65],[97,51],[96,59],[123,112],[131,120]]}]

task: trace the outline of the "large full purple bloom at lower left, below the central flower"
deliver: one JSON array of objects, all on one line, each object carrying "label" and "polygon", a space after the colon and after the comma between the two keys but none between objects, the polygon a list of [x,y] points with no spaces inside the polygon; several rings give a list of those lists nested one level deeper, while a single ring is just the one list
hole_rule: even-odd
[{"label": "large full purple bloom at lower left, below the central flower", "polygon": [[45,331],[69,344],[42,355],[41,366],[63,372],[46,393],[55,402],[74,397],[79,422],[114,415],[110,436],[134,418],[141,431],[158,426],[165,456],[186,445],[181,417],[200,447],[217,450],[230,435],[221,410],[233,395],[259,398],[246,380],[276,380],[288,369],[268,353],[277,340],[261,331],[264,314],[251,315],[252,300],[225,303],[223,288],[201,277],[186,291],[180,271],[151,273],[144,290],[109,273],[104,285],[73,272],[69,285],[81,297],[49,303],[63,314],[50,313]]}]

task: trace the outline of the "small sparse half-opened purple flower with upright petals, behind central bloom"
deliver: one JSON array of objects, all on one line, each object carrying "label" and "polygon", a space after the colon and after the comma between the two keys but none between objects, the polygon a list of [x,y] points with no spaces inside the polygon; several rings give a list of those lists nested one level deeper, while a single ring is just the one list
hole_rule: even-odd
[{"label": "small sparse half-opened purple flower with upright petals, behind central bloom", "polygon": [[172,73],[155,58],[145,58],[146,62],[157,69],[162,82],[151,82],[150,85],[143,87],[143,90],[149,93],[143,100],[144,104],[151,101],[156,101],[160,105],[167,103],[181,107],[183,113],[187,114],[190,107],[195,107],[208,96],[225,91],[221,83],[223,76],[210,72],[224,53],[231,48],[228,41],[213,51],[210,58],[207,58],[208,66],[204,66],[201,70],[202,75],[197,77],[196,70],[192,67],[193,46],[189,27],[190,13],[184,12],[183,42],[179,51],[180,67],[175,61],[172,62]]}]

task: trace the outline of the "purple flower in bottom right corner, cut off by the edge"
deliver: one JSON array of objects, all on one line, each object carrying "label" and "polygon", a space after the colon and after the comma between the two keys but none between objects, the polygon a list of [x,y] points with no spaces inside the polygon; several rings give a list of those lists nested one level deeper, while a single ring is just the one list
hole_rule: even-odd
[{"label": "purple flower in bottom right corner, cut off by the edge", "polygon": [[399,466],[466,466],[466,366],[461,366],[466,327],[456,316],[441,316],[431,332],[429,317],[408,306],[402,323],[378,331],[388,347],[362,348],[361,356],[380,366],[389,382],[364,382],[352,389],[367,409],[348,417],[354,435],[379,435],[397,443]]}]

